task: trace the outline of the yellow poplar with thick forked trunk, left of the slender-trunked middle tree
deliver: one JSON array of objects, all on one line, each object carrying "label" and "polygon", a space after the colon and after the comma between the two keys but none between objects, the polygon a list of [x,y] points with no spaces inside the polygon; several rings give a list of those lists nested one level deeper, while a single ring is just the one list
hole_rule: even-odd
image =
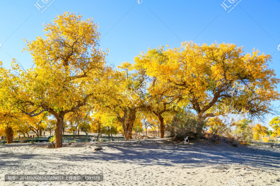
[{"label": "yellow poplar with thick forked trunk, left of the slender-trunked middle tree", "polygon": [[[143,79],[136,77],[137,73],[131,73],[133,66],[128,62],[122,63],[119,68],[122,70],[113,72],[111,81],[114,82],[114,85],[110,87],[112,93],[105,96],[100,104],[96,105],[95,112],[115,117],[122,126],[125,139],[128,140],[132,139],[133,124],[138,110],[141,108],[140,98],[131,95],[131,92],[137,89]],[[115,128],[118,128],[118,125]]]}]

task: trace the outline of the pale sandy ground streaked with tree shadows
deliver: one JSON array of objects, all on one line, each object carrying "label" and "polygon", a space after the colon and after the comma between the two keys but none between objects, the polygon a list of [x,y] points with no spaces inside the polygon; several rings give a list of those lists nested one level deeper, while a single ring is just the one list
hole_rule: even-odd
[{"label": "pale sandy ground streaked with tree shadows", "polygon": [[[5,182],[5,174],[104,175],[103,182],[52,182],[55,186],[222,186],[232,179],[242,186],[280,185],[280,144],[233,147],[223,140],[184,144],[170,139],[84,142],[57,149],[47,144],[0,145],[0,185],[42,183]],[[94,151],[96,145],[103,150]]]}]

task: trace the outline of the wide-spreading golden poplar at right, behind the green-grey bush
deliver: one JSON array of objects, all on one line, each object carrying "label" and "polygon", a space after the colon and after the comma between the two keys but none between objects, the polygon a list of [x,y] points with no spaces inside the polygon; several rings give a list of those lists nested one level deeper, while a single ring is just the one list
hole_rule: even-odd
[{"label": "wide-spreading golden poplar at right, behind the green-grey bush", "polygon": [[[271,56],[259,53],[244,54],[235,44],[185,42],[180,48],[152,49],[140,57],[153,56],[142,60],[147,75],[180,91],[184,104],[203,121],[219,115],[224,103],[231,105],[232,113],[245,110],[252,117],[275,113],[271,101],[279,100],[275,88],[280,81],[268,68]],[[197,133],[203,129],[200,123]]]}]

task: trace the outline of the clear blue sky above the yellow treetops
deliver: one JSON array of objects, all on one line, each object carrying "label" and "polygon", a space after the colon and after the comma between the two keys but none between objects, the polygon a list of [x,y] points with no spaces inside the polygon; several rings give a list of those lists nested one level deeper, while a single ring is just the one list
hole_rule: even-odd
[{"label": "clear blue sky above the yellow treetops", "polygon": [[[107,60],[119,65],[133,62],[140,51],[160,45],[180,47],[183,41],[211,44],[227,42],[244,46],[245,52],[259,49],[273,57],[270,68],[280,78],[280,0],[49,0],[4,1],[0,0],[0,60],[9,68],[11,57],[24,68],[32,64],[22,38],[29,40],[43,36],[42,24],[50,22],[64,11],[80,13],[84,18],[92,17],[100,26],[100,46],[109,48]],[[234,2],[231,4],[229,1]],[[239,2],[240,1],[240,2]],[[45,5],[40,11],[34,6]],[[141,2],[141,0],[139,0]],[[230,6],[225,9],[222,3]],[[237,5],[236,3],[239,2]],[[236,7],[234,7],[236,5]],[[232,7],[230,13],[227,13]],[[0,47],[1,49],[1,47]],[[279,89],[279,88],[278,88]],[[278,102],[274,104],[279,105]]]}]

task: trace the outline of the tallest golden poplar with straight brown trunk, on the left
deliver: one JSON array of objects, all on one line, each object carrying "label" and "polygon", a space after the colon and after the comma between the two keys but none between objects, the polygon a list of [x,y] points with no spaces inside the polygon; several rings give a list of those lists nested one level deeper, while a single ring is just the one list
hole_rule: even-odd
[{"label": "tallest golden poplar with straight brown trunk, on the left", "polygon": [[[32,117],[48,112],[56,118],[56,144],[62,147],[64,116],[103,95],[105,55],[99,48],[100,33],[92,18],[63,13],[44,24],[45,38],[26,41],[33,57],[31,69],[20,70],[20,95],[13,103]],[[30,110],[30,107],[34,108]]]}]

